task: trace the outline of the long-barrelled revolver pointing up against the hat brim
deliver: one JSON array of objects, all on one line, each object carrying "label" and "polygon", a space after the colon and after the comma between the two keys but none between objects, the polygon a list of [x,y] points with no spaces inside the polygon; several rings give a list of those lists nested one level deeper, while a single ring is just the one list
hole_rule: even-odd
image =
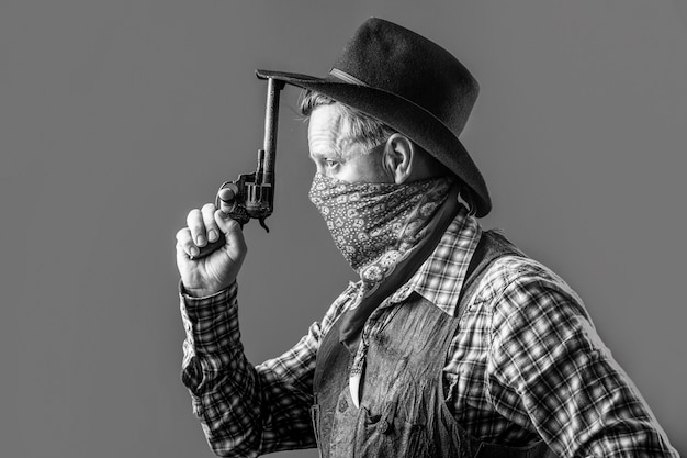
[{"label": "long-barrelled revolver pointing up against the hat brim", "polygon": [[[228,216],[237,221],[241,227],[251,219],[260,222],[267,231],[264,220],[272,214],[274,208],[274,160],[277,157],[277,129],[279,122],[279,93],[284,88],[284,81],[267,78],[267,107],[264,109],[264,142],[258,149],[258,167],[255,172],[241,174],[235,181],[225,181],[217,190],[215,205],[222,201],[230,202]],[[219,233],[219,238],[207,243],[200,248],[200,259],[215,249],[224,246],[226,238]]]}]

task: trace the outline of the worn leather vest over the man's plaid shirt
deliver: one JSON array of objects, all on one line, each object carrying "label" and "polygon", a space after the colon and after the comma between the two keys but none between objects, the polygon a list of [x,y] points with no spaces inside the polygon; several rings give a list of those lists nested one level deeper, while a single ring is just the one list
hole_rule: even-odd
[{"label": "worn leather vest over the man's plaid shirt", "polygon": [[455,317],[412,294],[368,342],[360,409],[348,375],[353,355],[335,324],[317,353],[313,426],[320,456],[510,457],[553,456],[543,442],[528,447],[483,443],[453,418],[443,396],[443,366],[460,317],[488,267],[502,256],[525,256],[505,237],[484,232],[468,269]]}]

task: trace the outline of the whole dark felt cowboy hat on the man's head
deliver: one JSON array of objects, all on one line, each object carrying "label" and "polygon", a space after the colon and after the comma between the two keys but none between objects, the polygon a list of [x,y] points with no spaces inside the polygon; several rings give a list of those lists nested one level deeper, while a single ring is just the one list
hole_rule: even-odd
[{"label": "whole dark felt cowboy hat on the man's head", "polygon": [[256,74],[319,92],[387,124],[470,188],[477,216],[491,211],[484,178],[458,138],[477,98],[477,81],[436,43],[371,18],[324,78],[273,70]]}]

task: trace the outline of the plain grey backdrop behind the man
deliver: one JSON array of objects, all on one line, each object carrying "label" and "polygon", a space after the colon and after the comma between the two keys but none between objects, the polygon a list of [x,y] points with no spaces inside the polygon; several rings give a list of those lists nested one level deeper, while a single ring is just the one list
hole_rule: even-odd
[{"label": "plain grey backdrop behind the man", "polygon": [[[463,139],[495,201],[484,225],[582,294],[686,449],[684,3],[3,0],[3,457],[212,456],[179,381],[174,233],[254,168],[254,69],[324,75],[370,15],[474,71]],[[282,99],[272,232],[246,230],[255,362],[294,344],[352,278],[307,201],[296,94]]]}]

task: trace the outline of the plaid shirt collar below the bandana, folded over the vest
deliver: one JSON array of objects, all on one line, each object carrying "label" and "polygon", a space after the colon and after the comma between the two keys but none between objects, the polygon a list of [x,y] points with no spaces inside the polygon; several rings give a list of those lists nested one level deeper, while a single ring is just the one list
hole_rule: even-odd
[{"label": "plaid shirt collar below the bandana, folded over the vest", "polygon": [[439,245],[418,271],[390,298],[398,303],[417,292],[447,314],[454,316],[468,265],[480,242],[482,228],[461,206]]}]

